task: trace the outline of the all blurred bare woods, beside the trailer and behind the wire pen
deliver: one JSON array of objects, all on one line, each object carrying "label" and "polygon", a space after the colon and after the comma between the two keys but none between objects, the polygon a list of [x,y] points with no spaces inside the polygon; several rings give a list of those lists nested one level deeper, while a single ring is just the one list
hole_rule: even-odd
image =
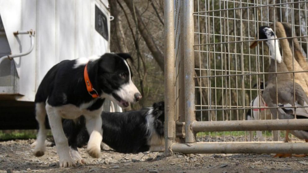
[{"label": "all blurred bare woods, beside the trailer and behind the wire pen", "polygon": [[[291,3],[258,8],[256,5],[286,3],[287,0],[195,0],[194,11],[211,11],[194,14],[195,70],[197,120],[242,120],[247,108],[257,95],[256,83],[266,81],[266,75],[237,74],[268,71],[269,51],[249,49],[259,26],[281,21],[295,24],[297,36],[307,34],[307,3]],[[294,0],[294,2],[300,2]],[[111,52],[129,52],[134,58],[134,83],[143,95],[132,109],[150,106],[164,100],[164,9],[163,0],[109,0],[111,16]],[[180,0],[174,7],[179,7]],[[232,10],[215,11],[231,8]],[[175,10],[176,11],[176,10]],[[180,15],[180,11],[176,13]],[[176,31],[175,31],[176,33]],[[181,33],[180,33],[181,34]],[[307,52],[306,39],[300,38],[303,52]],[[231,42],[231,43],[229,43]],[[209,44],[210,43],[210,44]],[[215,44],[213,44],[215,43]],[[217,44],[219,43],[219,44]],[[176,52],[178,58],[180,52]],[[306,55],[306,54],[305,54]],[[230,75],[233,76],[219,76]],[[207,109],[234,109],[211,110]],[[219,116],[217,116],[219,115]]]}]

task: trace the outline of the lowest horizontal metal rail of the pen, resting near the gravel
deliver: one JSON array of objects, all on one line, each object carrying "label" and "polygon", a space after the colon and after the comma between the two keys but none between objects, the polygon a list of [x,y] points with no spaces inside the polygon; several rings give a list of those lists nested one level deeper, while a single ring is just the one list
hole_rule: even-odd
[{"label": "lowest horizontal metal rail of the pen, resting near the gravel", "polygon": [[216,154],[216,153],[308,153],[308,143],[196,143],[173,144],[173,152],[184,154]]}]

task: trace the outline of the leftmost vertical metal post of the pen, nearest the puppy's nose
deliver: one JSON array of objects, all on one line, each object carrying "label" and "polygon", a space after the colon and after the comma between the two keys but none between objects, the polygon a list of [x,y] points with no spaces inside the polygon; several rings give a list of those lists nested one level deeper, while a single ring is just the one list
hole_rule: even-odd
[{"label": "leftmost vertical metal post of the pen, nearest the puppy's nose", "polygon": [[175,142],[174,109],[174,1],[165,0],[165,156]]}]

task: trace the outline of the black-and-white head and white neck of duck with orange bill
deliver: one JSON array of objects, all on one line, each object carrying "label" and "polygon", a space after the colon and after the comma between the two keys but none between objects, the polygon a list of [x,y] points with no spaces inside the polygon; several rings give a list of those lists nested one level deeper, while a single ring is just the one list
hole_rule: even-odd
[{"label": "black-and-white head and white neck of duck with orange bill", "polygon": [[[269,26],[260,26],[259,32],[256,34],[256,40],[266,39],[264,40],[266,44],[269,46],[269,49],[271,51],[271,58],[274,60],[277,60],[277,62],[281,62],[281,54],[279,52],[279,40],[276,40],[276,35]],[[250,45],[250,48],[255,48],[258,45],[259,41],[253,41]]]}]

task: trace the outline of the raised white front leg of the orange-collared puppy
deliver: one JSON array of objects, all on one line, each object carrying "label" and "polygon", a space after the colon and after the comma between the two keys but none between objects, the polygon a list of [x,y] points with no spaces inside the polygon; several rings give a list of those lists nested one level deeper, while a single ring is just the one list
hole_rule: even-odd
[{"label": "raised white front leg of the orange-collared puppy", "polygon": [[[100,112],[100,111],[98,111]],[[86,118],[86,127],[90,135],[87,152],[91,157],[98,158],[101,153],[102,143],[102,118],[99,113],[96,117],[84,116]]]}]

